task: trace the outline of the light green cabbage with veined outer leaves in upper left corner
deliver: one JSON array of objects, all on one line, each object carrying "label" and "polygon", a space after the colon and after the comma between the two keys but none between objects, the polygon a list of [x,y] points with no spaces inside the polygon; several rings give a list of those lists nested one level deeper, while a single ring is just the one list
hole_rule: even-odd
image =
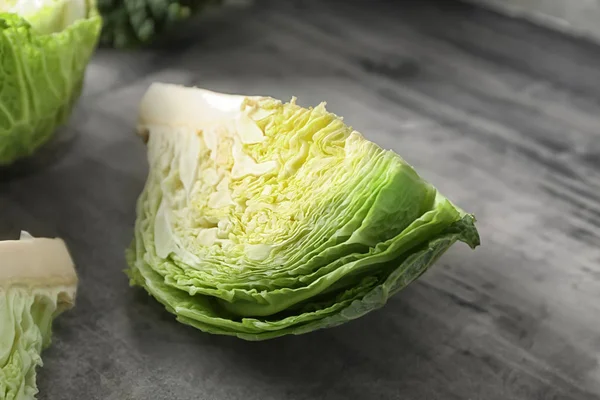
[{"label": "light green cabbage with veined outer leaves in upper left corner", "polygon": [[0,2],[0,165],[66,123],[101,25],[92,0]]}]

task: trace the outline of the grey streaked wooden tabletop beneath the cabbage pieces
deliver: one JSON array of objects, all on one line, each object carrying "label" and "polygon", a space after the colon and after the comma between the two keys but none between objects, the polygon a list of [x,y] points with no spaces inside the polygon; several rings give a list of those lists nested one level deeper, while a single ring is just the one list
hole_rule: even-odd
[{"label": "grey streaked wooden tabletop beneath the cabbage pieces", "polygon": [[[600,398],[600,48],[453,2],[270,1],[168,46],[100,50],[66,155],[0,183],[0,235],[81,276],[40,399]],[[152,81],[322,100],[479,219],[382,310],[249,343],[178,324],[122,270]]]}]

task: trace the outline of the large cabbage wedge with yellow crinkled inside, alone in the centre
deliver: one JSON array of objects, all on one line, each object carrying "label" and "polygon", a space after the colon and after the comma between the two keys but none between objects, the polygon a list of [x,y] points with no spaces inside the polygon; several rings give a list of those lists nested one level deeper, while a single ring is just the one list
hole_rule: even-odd
[{"label": "large cabbage wedge with yellow crinkled inside, alone in the centre", "polygon": [[262,340],[383,306],[474,217],[324,104],[153,84],[131,282],[179,321]]}]

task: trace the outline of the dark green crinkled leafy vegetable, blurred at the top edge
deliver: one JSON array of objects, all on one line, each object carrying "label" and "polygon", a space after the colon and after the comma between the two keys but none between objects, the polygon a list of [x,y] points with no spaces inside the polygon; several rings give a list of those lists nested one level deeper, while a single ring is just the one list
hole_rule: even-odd
[{"label": "dark green crinkled leafy vegetable, blurred at the top edge", "polygon": [[101,43],[124,48],[148,45],[177,23],[221,0],[98,0],[104,19]]}]

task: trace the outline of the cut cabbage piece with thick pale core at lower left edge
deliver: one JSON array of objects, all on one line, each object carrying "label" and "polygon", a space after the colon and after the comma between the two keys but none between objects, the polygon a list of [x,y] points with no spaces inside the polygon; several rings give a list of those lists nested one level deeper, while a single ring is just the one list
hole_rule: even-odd
[{"label": "cut cabbage piece with thick pale core at lower left edge", "polygon": [[50,345],[52,322],[71,308],[77,274],[61,239],[0,242],[0,399],[28,400],[38,393],[36,367]]}]

